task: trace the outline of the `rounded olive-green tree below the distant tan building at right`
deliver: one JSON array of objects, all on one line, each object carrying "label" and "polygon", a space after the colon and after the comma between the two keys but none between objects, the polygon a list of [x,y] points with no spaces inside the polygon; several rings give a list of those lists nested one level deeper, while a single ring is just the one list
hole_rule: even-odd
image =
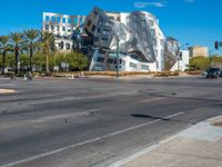
[{"label": "rounded olive-green tree below the distant tan building at right", "polygon": [[210,59],[205,57],[193,57],[190,59],[189,68],[192,70],[205,70],[210,67]]}]

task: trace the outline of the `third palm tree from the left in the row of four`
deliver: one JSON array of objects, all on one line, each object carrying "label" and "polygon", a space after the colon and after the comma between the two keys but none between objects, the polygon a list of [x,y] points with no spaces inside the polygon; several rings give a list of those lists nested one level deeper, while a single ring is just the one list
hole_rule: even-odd
[{"label": "third palm tree from the left in the row of four", "polygon": [[33,57],[33,49],[37,45],[38,38],[39,38],[39,31],[34,29],[24,30],[23,31],[23,38],[27,42],[27,46],[29,48],[29,69],[32,72],[32,57]]}]

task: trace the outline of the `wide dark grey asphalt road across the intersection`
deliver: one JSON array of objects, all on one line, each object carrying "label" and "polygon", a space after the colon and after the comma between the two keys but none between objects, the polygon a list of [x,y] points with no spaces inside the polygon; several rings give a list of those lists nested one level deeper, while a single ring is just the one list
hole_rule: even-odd
[{"label": "wide dark grey asphalt road across the intersection", "polygon": [[222,115],[222,80],[0,79],[1,167],[104,167]]}]

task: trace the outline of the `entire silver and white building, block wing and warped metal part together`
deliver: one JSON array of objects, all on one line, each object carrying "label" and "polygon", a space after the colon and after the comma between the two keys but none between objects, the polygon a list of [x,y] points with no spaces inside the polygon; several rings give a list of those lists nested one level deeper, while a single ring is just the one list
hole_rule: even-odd
[{"label": "entire silver and white building, block wing and warped metal part together", "polygon": [[179,56],[178,40],[165,38],[159,20],[147,11],[95,7],[88,17],[44,12],[42,30],[53,32],[61,51],[81,43],[91,60],[89,70],[172,70]]}]

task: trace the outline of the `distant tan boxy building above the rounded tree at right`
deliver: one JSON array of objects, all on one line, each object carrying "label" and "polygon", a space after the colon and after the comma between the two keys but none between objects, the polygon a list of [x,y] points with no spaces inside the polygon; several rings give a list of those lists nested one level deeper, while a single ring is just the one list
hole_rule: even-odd
[{"label": "distant tan boxy building above the rounded tree at right", "polygon": [[189,47],[190,58],[192,57],[209,57],[209,48],[208,47]]}]

